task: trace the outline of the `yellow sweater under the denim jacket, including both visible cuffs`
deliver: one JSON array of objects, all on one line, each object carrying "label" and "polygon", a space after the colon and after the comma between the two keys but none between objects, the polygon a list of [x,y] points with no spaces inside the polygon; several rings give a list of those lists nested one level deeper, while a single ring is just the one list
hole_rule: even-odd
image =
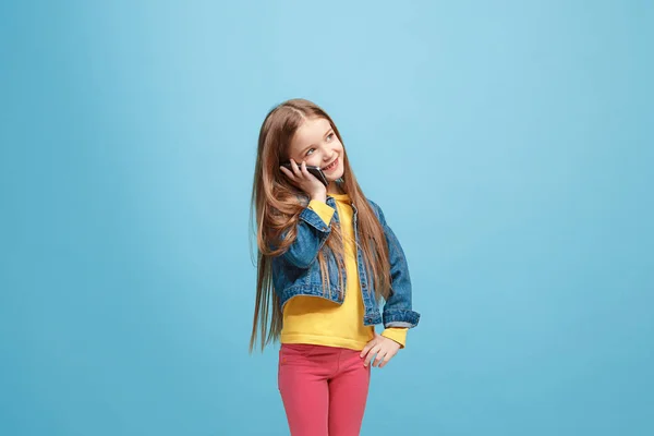
[{"label": "yellow sweater under the denim jacket, including both visible cuffs", "polygon": [[[346,295],[342,304],[322,296],[296,295],[283,307],[281,343],[313,343],[362,350],[374,338],[374,326],[363,325],[364,305],[356,268],[353,209],[347,194],[330,194],[336,199],[343,234]],[[329,225],[335,210],[323,202],[312,201],[308,207]],[[387,328],[383,336],[401,348],[407,342],[407,328]]]}]

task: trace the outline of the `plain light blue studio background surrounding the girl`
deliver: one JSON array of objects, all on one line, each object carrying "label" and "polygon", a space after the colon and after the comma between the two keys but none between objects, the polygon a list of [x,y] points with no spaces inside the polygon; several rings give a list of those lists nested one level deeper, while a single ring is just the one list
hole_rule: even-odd
[{"label": "plain light blue studio background surrounding the girl", "polygon": [[288,434],[249,201],[292,97],[422,314],[363,435],[654,434],[652,2],[0,8],[0,434]]}]

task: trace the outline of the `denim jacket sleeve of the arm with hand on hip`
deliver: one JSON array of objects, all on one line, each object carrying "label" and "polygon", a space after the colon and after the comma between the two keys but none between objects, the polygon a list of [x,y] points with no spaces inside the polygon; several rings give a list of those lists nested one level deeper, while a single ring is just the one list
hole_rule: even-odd
[{"label": "denim jacket sleeve of the arm with hand on hip", "polygon": [[384,217],[382,208],[371,202],[379,217],[384,228],[386,242],[388,243],[388,257],[390,263],[391,292],[386,300],[382,317],[384,327],[415,327],[420,320],[420,314],[412,307],[412,286],[409,274],[409,265],[400,241],[390,229]]}]

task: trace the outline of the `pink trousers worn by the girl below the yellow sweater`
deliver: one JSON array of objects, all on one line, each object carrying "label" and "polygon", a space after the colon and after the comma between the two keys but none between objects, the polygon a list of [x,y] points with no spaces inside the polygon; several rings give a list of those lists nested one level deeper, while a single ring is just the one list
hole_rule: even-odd
[{"label": "pink trousers worn by the girl below the yellow sweater", "polygon": [[359,436],[371,380],[360,351],[282,343],[278,386],[291,436]]}]

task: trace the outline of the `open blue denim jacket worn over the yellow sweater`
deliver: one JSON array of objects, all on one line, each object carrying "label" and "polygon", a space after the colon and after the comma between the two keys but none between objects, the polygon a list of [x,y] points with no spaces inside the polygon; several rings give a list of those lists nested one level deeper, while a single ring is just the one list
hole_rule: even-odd
[{"label": "open blue denim jacket worn over the yellow sweater", "polygon": [[[417,325],[420,314],[414,312],[411,306],[411,278],[409,267],[404,257],[404,252],[400,242],[384,218],[382,208],[368,199],[368,203],[375,210],[388,243],[388,255],[390,262],[391,293],[387,299],[384,308],[379,311],[379,302],[375,299],[373,280],[368,280],[363,254],[356,249],[356,264],[359,268],[359,279],[361,282],[361,292],[365,307],[363,324],[366,326],[384,323],[384,327],[408,327]],[[336,201],[327,196],[327,205],[335,210]],[[356,207],[352,204],[354,238],[359,246],[359,233],[356,231]],[[338,222],[338,210],[332,219]],[[298,237],[293,244],[283,254],[272,258],[272,286],[280,298],[280,304],[283,305],[295,295],[314,295],[329,299],[336,303],[342,304],[343,299],[338,292],[338,266],[334,254],[326,253],[327,269],[329,274],[329,293],[323,292],[323,280],[320,266],[317,261],[318,252],[323,249],[327,237],[331,231],[330,226],[325,225],[323,219],[308,207],[300,213],[298,221]],[[327,252],[329,250],[325,246]],[[346,275],[344,270],[342,271]],[[347,277],[344,277],[347,280]]]}]

